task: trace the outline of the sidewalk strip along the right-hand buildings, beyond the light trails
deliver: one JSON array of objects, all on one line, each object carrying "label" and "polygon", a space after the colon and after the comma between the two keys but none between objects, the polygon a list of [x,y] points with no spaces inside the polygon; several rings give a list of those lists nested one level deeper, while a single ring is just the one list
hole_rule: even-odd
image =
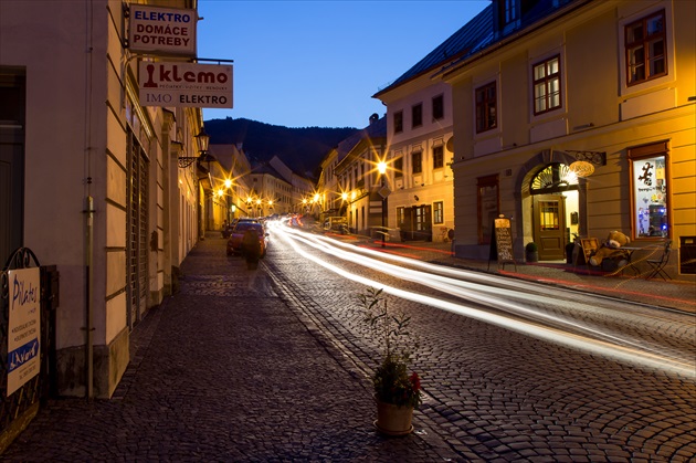
[{"label": "sidewalk strip along the right-hand buildings, beyond the light trails", "polygon": [[[340,235],[336,235],[339,238]],[[525,263],[505,264],[498,267],[496,261],[458,259],[452,255],[452,243],[432,243],[409,241],[405,243],[382,242],[367,238],[344,238],[356,245],[377,249],[388,253],[420,259],[458,269],[473,270],[505,275],[509,277],[536,281],[559,287],[573,288],[587,293],[601,294],[640,304],[675,308],[696,314],[696,284],[662,278],[636,278],[624,275],[590,273],[586,266],[574,267],[566,263]]]}]

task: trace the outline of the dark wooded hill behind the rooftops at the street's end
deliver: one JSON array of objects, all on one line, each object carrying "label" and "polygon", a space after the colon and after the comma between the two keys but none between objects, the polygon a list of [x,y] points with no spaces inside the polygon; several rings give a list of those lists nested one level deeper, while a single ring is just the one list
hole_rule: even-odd
[{"label": "dark wooded hill behind the rooftops at the street's end", "polygon": [[331,148],[358,129],[355,127],[289,128],[244,118],[205,120],[211,144],[242,145],[252,166],[277,156],[296,173],[316,180]]}]

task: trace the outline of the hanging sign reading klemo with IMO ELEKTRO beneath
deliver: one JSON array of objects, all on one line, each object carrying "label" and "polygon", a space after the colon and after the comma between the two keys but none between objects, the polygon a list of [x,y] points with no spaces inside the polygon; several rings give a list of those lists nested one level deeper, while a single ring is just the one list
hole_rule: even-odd
[{"label": "hanging sign reading klemo with IMO ELEKTRO beneath", "polygon": [[143,106],[232,108],[232,66],[140,62]]}]

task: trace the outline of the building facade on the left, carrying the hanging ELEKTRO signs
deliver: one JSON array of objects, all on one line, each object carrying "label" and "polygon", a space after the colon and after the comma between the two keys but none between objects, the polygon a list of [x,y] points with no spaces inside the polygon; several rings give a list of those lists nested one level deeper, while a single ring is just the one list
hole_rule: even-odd
[{"label": "building facade on the left, carrying the hanging ELEKTRO signs", "polygon": [[133,327],[205,223],[210,171],[178,162],[202,149],[201,109],[139,101],[128,7],[0,2],[0,257],[29,248],[60,272],[61,394],[112,396]]}]

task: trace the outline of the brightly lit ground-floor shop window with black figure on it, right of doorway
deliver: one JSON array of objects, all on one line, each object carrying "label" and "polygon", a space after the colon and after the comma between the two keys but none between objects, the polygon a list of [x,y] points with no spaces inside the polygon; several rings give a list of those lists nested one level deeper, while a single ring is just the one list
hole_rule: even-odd
[{"label": "brightly lit ground-floor shop window with black figure on it, right of doorway", "polygon": [[629,149],[634,238],[669,235],[666,151],[665,141]]}]

